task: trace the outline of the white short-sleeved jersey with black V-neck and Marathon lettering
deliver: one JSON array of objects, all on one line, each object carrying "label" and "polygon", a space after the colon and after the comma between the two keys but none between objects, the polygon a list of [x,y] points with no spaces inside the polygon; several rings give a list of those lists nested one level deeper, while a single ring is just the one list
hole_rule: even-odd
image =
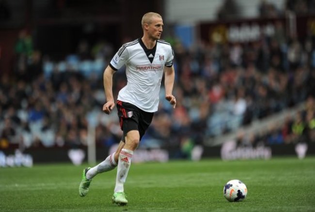
[{"label": "white short-sleeved jersey with black V-neck and Marathon lettering", "polygon": [[146,112],[157,111],[164,66],[172,67],[173,58],[171,45],[162,40],[153,49],[147,49],[141,38],[124,44],[110,61],[114,70],[126,65],[127,85],[117,100]]}]

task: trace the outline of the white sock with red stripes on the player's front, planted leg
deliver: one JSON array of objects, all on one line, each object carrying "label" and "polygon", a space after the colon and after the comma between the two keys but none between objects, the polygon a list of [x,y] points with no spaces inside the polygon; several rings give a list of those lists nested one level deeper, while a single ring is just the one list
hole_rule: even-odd
[{"label": "white sock with red stripes on the player's front, planted leg", "polygon": [[133,151],[122,149],[119,154],[117,176],[116,176],[116,186],[114,192],[124,192],[124,183],[128,175],[128,171],[131,165],[131,158]]}]

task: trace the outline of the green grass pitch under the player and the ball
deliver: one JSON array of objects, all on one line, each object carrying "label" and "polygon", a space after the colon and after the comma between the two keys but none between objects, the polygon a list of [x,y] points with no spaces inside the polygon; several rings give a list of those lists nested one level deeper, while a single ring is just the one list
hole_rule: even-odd
[{"label": "green grass pitch under the player and the ball", "polygon": [[[85,166],[0,168],[1,212],[311,212],[315,211],[315,157],[270,160],[132,164],[128,205],[111,203],[116,170],[97,175],[86,197],[78,186]],[[223,186],[243,181],[248,196],[228,202]]]}]

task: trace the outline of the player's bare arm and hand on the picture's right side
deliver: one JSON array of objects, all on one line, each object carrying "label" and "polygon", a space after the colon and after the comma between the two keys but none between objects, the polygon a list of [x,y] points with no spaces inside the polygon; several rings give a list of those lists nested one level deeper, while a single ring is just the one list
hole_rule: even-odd
[{"label": "player's bare arm and hand on the picture's right side", "polygon": [[175,80],[175,71],[174,66],[171,67],[165,66],[165,79],[164,79],[164,86],[165,86],[165,98],[173,105],[173,108],[176,107],[176,98],[173,96],[173,86]]}]

